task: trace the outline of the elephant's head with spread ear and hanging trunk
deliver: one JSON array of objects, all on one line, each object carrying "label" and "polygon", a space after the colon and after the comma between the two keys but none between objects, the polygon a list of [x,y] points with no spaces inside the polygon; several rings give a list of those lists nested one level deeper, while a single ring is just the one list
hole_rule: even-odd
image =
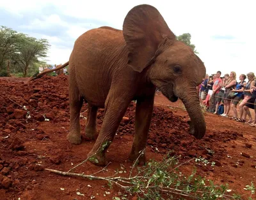
[{"label": "elephant's head with spread ear and hanging trunk", "polygon": [[132,8],[125,17],[123,34],[129,51],[128,66],[144,71],[147,80],[170,101],[179,97],[191,118],[190,133],[202,138],[206,128],[196,86],[205,76],[204,63],[189,46],[177,41],[153,6]]}]

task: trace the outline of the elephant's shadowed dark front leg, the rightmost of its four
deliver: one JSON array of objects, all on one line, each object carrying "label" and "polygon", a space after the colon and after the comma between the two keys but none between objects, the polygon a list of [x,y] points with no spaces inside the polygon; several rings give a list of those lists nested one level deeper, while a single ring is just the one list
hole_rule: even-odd
[{"label": "elephant's shadowed dark front leg, the rightmost of its four", "polygon": [[135,115],[135,135],[131,154],[129,155],[130,161],[135,161],[140,156],[138,159],[139,163],[143,162],[143,164],[145,164],[145,152],[144,154],[141,154],[141,150],[146,147],[153,108],[154,96],[137,100]]}]

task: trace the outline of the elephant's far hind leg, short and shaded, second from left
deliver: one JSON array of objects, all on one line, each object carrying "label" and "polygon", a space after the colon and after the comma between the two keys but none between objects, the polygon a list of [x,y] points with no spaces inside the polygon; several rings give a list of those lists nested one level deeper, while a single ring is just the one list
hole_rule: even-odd
[{"label": "elephant's far hind leg, short and shaded, second from left", "polygon": [[88,114],[85,127],[85,136],[88,139],[96,139],[97,129],[96,129],[96,118],[97,118],[98,107],[88,104]]}]

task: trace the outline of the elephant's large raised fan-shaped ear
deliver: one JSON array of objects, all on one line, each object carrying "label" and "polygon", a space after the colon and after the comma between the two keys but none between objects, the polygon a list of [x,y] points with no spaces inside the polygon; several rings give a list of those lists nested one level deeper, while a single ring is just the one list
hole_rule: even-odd
[{"label": "elephant's large raised fan-shaped ear", "polygon": [[129,51],[128,65],[139,72],[147,67],[164,39],[175,39],[159,11],[147,4],[135,6],[127,13],[123,34]]}]

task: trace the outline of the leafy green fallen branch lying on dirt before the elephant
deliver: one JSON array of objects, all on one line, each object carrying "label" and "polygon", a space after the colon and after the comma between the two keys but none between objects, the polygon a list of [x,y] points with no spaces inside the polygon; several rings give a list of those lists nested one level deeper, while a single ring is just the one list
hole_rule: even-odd
[{"label": "leafy green fallen branch lying on dirt before the elephant", "polygon": [[[143,151],[144,150],[141,150],[139,157],[143,154]],[[188,161],[182,162],[174,168],[173,164],[177,163],[173,161],[175,161],[177,158],[178,157],[169,158],[169,154],[167,154],[166,157],[164,157],[163,162],[148,162],[148,166],[146,168],[142,168],[142,170],[141,168],[138,168],[139,173],[131,176],[132,170],[134,169],[136,162],[138,162],[138,159],[136,159],[132,165],[129,178],[115,175],[106,177],[94,176],[100,171],[104,171],[107,166],[102,168],[100,171],[93,173],[93,175],[84,175],[84,173],[71,173],[69,171],[58,171],[55,169],[45,170],[63,176],[76,176],[88,178],[90,180],[104,180],[111,184],[113,183],[117,185],[121,189],[124,189],[128,194],[137,194],[138,196],[147,197],[147,199],[156,199],[161,194],[170,196],[171,199],[173,198],[173,194],[175,194],[175,196],[177,195],[189,197],[189,199],[216,199],[216,197],[222,197],[222,199],[230,199],[234,197],[227,194],[227,192],[231,191],[228,190],[227,185],[214,185],[213,182],[210,182],[210,184],[205,184],[205,178],[201,178],[200,176],[195,177],[194,171],[188,178],[181,176],[179,173],[176,173],[175,169],[193,160],[189,159]],[[88,161],[88,159],[83,162]],[[248,185],[246,187],[249,188]],[[253,194],[255,187],[251,185],[250,190],[251,194]]]}]

